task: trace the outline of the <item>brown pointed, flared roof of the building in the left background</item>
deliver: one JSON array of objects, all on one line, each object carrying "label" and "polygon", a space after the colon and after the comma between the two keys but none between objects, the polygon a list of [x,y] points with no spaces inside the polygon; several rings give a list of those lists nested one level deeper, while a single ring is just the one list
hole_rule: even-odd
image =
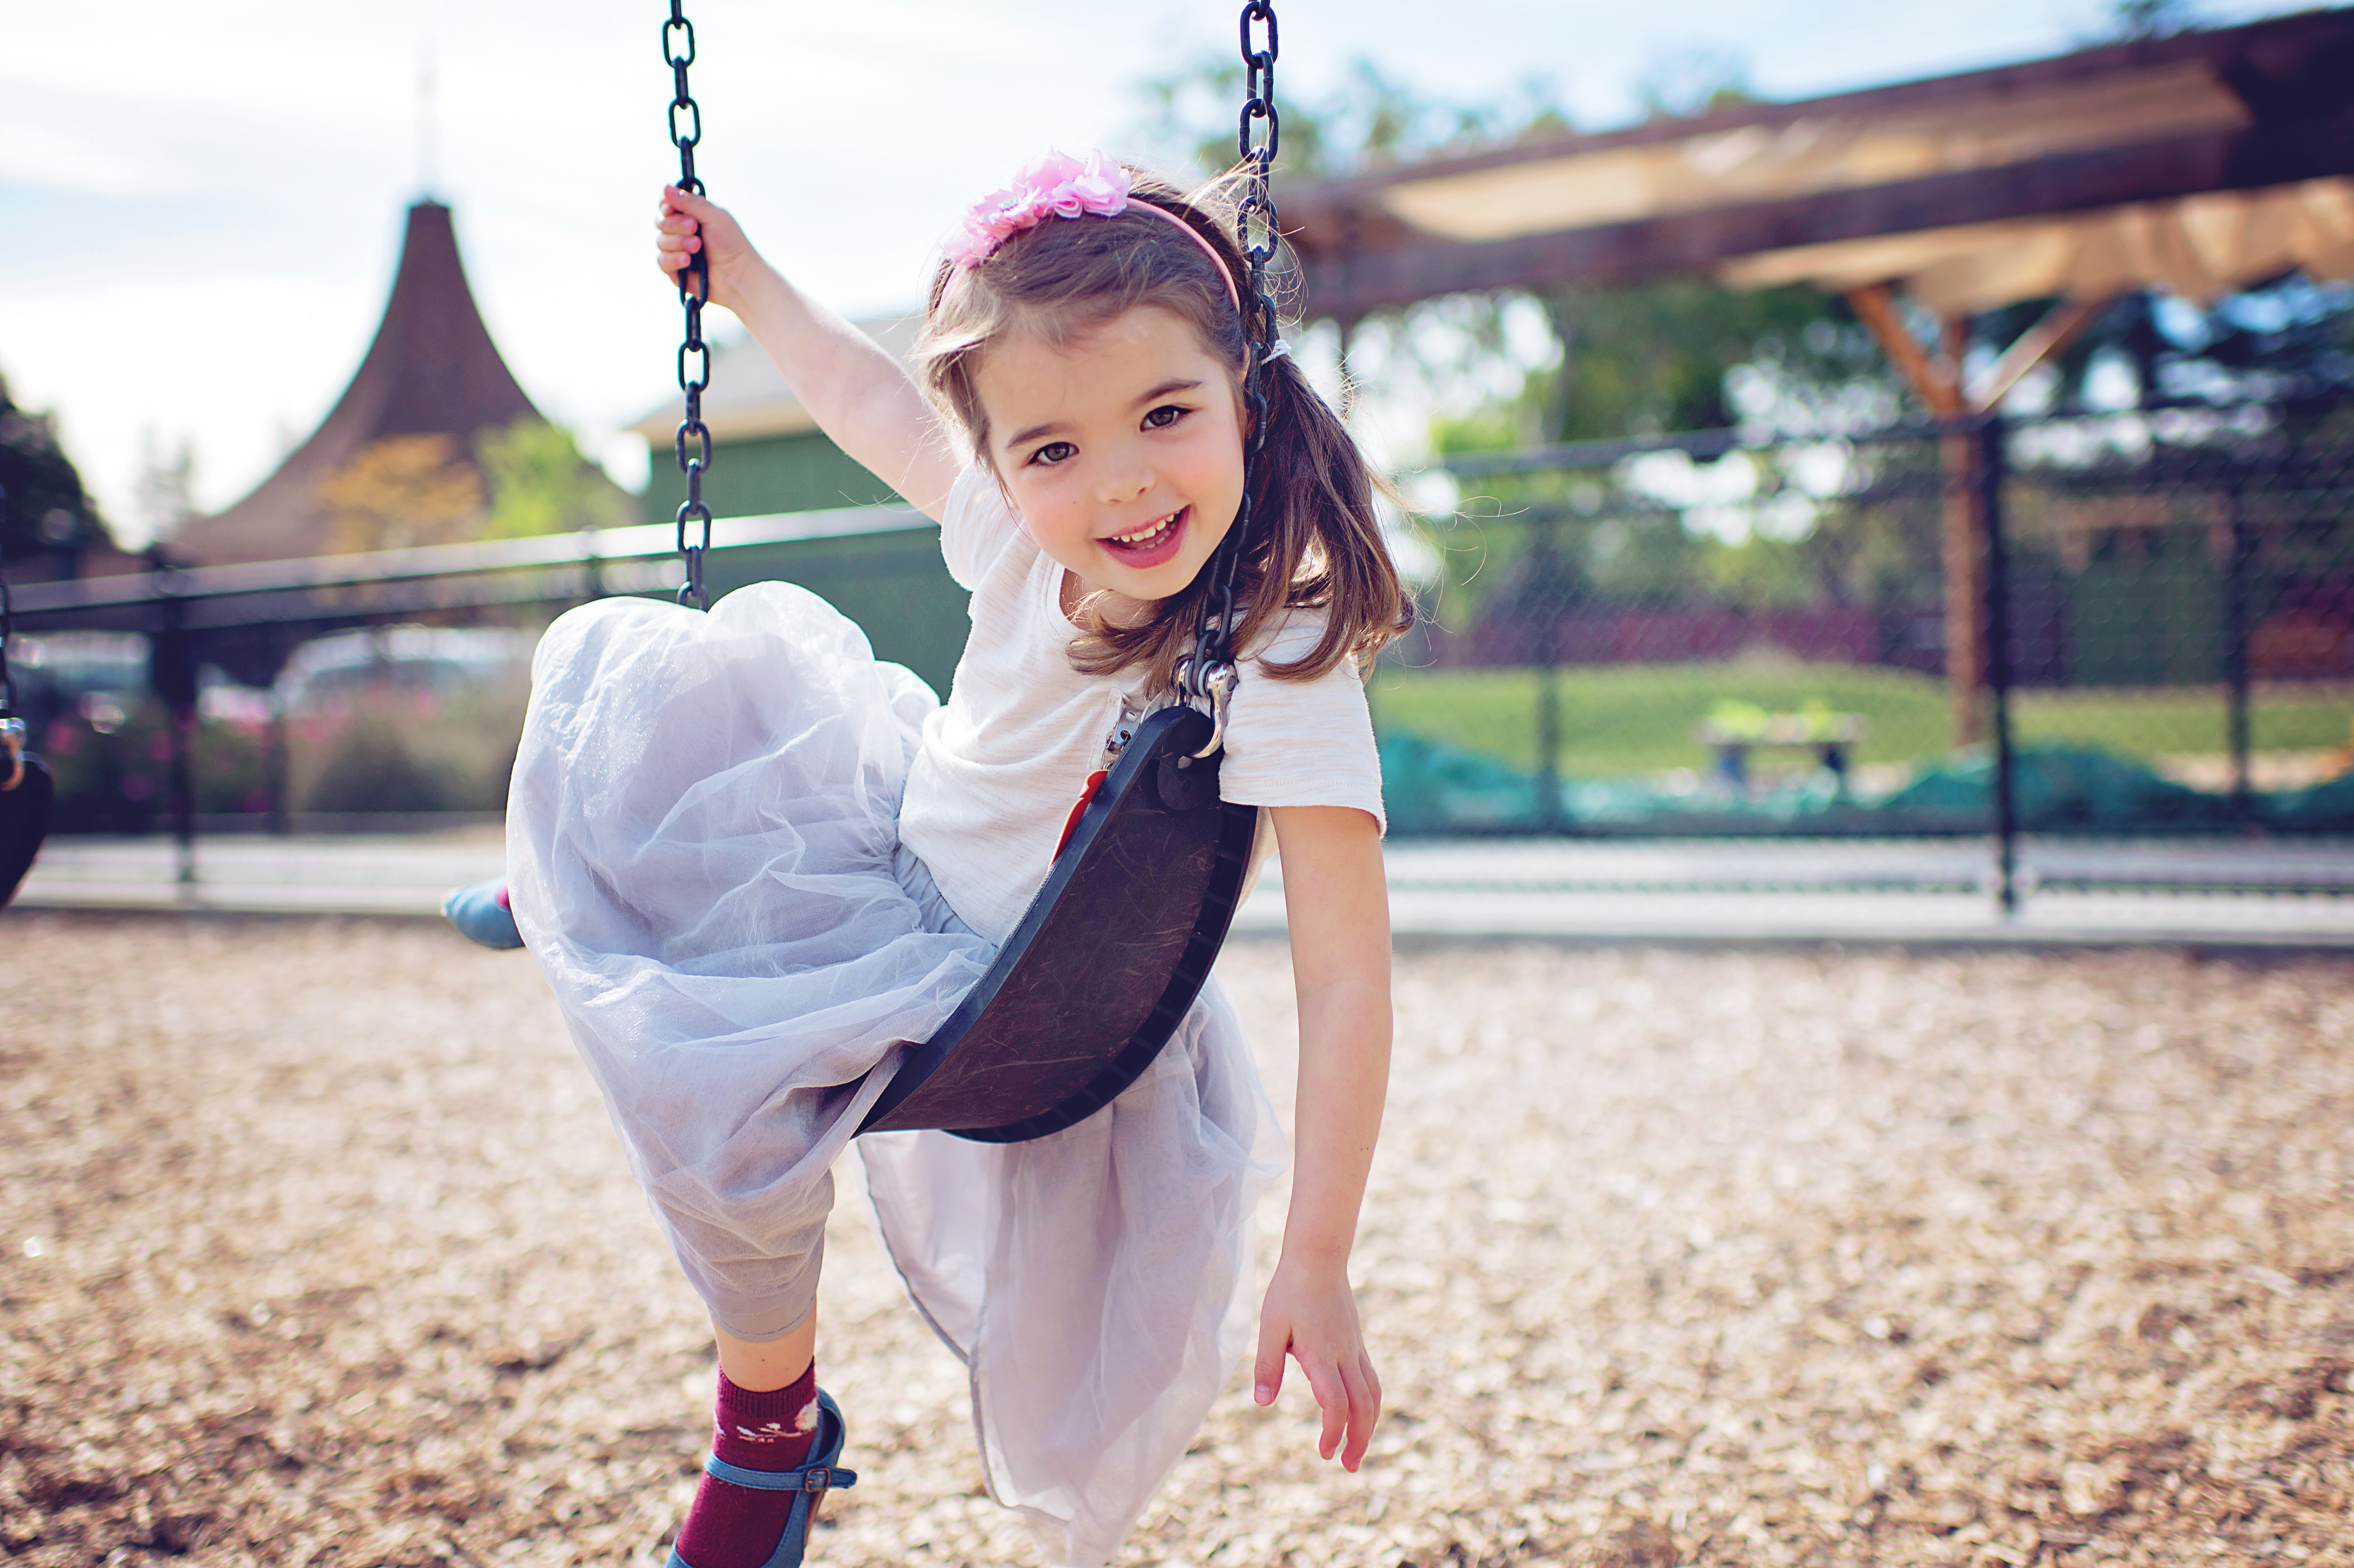
[{"label": "brown pointed, flared roof of the building in the left background", "polygon": [[191,565],[322,556],[334,518],[320,506],[318,485],[372,440],[457,436],[471,450],[476,431],[525,414],[539,410],[490,341],[466,287],[450,210],[421,200],[410,207],[377,341],[334,410],[252,494],[188,523],[167,542],[169,551]]}]

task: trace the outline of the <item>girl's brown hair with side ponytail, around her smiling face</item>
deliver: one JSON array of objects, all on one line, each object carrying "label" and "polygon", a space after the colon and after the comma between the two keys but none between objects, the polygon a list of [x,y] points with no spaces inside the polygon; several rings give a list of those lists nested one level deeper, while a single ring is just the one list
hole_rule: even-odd
[{"label": "girl's brown hair with side ponytail, around her smiling face", "polygon": [[[1231,217],[1224,198],[1231,179],[1189,198],[1168,181],[1135,174],[1128,195],[1184,221],[1217,252],[1229,278],[1241,283],[1248,268],[1231,226],[1219,221],[1222,210]],[[1226,278],[1201,245],[1170,224],[1149,212],[1121,212],[1048,219],[1008,238],[979,266],[942,264],[925,325],[925,391],[965,428],[975,450],[986,454],[989,417],[972,374],[989,344],[1029,332],[1059,346],[1146,304],[1191,325],[1241,388],[1255,346],[1245,341]],[[1250,532],[1236,563],[1233,598],[1241,617],[1233,647],[1238,655],[1259,647],[1288,607],[1323,610],[1325,629],[1314,650],[1292,664],[1262,666],[1278,680],[1311,680],[1342,659],[1370,659],[1412,624],[1415,607],[1389,560],[1372,504],[1387,487],[1356,450],[1339,414],[1316,396],[1290,356],[1269,360],[1259,374],[1266,440],[1250,471]],[[1153,690],[1170,690],[1177,664],[1193,652],[1208,598],[1205,565],[1201,577],[1161,600],[1156,614],[1139,626],[1113,626],[1099,614],[1085,614],[1083,631],[1071,643],[1071,664],[1090,676],[1144,666]]]}]

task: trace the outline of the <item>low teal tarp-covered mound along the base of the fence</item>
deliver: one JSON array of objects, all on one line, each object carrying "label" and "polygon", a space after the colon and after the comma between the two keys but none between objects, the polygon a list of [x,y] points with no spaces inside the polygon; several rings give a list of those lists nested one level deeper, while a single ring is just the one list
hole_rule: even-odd
[{"label": "low teal tarp-covered mound along the base of the fence", "polygon": [[[2013,763],[2022,831],[2142,833],[2354,831],[2354,775],[2257,793],[2246,819],[2232,800],[2163,779],[2142,763],[2090,746],[2022,746]],[[1495,831],[1540,822],[1535,775],[1422,735],[1382,737],[1382,793],[1403,833]],[[1994,756],[1963,753],[1921,768],[1888,793],[1843,793],[1829,775],[1742,791],[1721,782],[1664,789],[1648,779],[1563,779],[1558,824],[1591,831],[1935,833],[1977,831],[1994,810]]]}]

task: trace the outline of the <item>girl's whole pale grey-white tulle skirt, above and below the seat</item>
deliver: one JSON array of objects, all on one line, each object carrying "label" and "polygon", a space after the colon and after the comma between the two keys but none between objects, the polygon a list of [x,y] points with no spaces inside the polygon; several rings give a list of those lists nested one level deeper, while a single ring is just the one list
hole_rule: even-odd
[{"label": "girl's whole pale grey-white tulle skirt, above and below the seat", "polygon": [[[746,1340],[814,1304],[833,1161],[993,956],[899,845],[935,706],[789,584],[709,614],[584,605],[532,662],[516,923],[687,1281]],[[1066,1132],[880,1132],[862,1158],[909,1295],[972,1370],[991,1493],[1050,1563],[1109,1561],[1250,1342],[1281,1132],[1233,1008],[1212,979]]]}]

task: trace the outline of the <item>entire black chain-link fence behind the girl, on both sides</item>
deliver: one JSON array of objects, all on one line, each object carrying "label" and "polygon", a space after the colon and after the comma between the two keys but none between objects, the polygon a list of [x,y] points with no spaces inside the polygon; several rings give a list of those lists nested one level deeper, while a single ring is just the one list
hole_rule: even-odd
[{"label": "entire black chain-link fence behind the girl, on both sides", "polygon": [[[1422,532],[1424,624],[1372,676],[1401,836],[2354,833],[2354,403],[1848,438],[1711,431],[1462,454],[1450,469],[1462,499]],[[711,556],[713,589],[807,582],[944,690],[963,596],[913,523],[862,513],[864,532],[779,542],[734,523]],[[351,572],[388,574],[363,586],[245,582],[297,567],[308,582],[334,563],[238,567],[221,584],[21,586],[33,640],[64,650],[61,633],[87,631],[127,650],[80,680],[89,690],[26,669],[33,709],[42,680],[61,680],[35,725],[38,746],[73,753],[59,763],[61,789],[73,784],[59,826],[151,831],[174,793],[224,826],[388,810],[306,793],[290,716],[252,702],[198,711],[195,666],[233,664],[250,622],[273,622],[259,631],[290,647],[304,617],[313,631],[537,624],[577,598],[671,593],[659,553],[673,530],[624,534],[629,560],[586,565],[508,560],[567,542],[353,558]],[[195,638],[179,659],[195,704],[188,768],[144,690],[162,666],[139,652],[179,622]],[[513,716],[459,723],[447,697],[433,702],[410,727],[454,723],[497,744],[476,746],[480,765],[445,768],[419,742],[410,772],[480,775],[480,789],[400,805],[494,808]],[[346,772],[377,793],[395,777]]]}]

